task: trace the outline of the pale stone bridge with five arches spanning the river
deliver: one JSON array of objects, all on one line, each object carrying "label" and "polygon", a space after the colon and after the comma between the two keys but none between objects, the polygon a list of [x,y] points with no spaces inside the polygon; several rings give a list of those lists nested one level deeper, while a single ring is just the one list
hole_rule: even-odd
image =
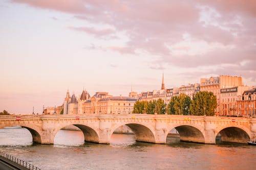
[{"label": "pale stone bridge with five arches spanning the river", "polygon": [[69,125],[81,129],[84,140],[110,143],[120,126],[132,129],[137,141],[166,143],[168,132],[176,129],[182,141],[215,144],[216,137],[227,142],[247,143],[256,138],[256,118],[185,116],[155,114],[77,114],[77,115],[8,115],[0,116],[0,128],[27,128],[33,142],[53,144],[57,132]]}]

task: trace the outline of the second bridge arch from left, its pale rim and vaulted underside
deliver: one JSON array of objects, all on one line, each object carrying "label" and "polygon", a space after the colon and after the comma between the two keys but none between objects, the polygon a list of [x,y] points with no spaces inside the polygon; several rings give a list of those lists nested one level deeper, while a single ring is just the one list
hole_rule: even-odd
[{"label": "second bridge arch from left, its pale rim and vaulted underside", "polygon": [[83,125],[83,124],[67,124],[67,125],[58,126],[57,128],[55,128],[55,131],[52,134],[53,139],[55,138],[59,130],[71,125],[76,126],[82,131],[84,136],[84,141],[99,143],[99,134],[97,133],[97,131],[93,127],[90,127],[88,125]]}]

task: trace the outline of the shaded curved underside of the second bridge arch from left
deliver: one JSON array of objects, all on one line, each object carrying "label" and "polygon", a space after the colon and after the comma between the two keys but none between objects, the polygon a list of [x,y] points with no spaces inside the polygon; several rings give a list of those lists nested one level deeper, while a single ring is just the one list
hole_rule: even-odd
[{"label": "shaded curved underside of the second bridge arch from left", "polygon": [[[99,143],[99,135],[93,128],[86,126],[86,125],[80,125],[80,124],[71,124],[71,125],[76,126],[77,128],[79,128],[82,131],[83,136],[84,136],[84,141]],[[61,127],[60,129],[65,128],[65,127],[67,127],[67,126]],[[55,132],[54,138],[59,130],[57,130]]]}]

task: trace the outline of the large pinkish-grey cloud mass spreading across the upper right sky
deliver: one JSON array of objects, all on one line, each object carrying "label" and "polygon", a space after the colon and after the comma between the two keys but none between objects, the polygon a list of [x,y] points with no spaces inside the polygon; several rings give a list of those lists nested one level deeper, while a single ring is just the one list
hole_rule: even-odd
[{"label": "large pinkish-grey cloud mass spreading across the upper right sky", "polygon": [[[158,56],[155,64],[147,63],[152,69],[163,69],[166,64],[182,68],[239,66],[243,61],[250,61],[246,69],[239,66],[235,71],[255,71],[256,2],[253,0],[13,2],[70,13],[93,27],[70,26],[69,29],[101,39],[118,38],[123,33],[125,44],[104,48],[121,54]],[[105,28],[96,27],[99,25]],[[228,68],[225,67],[232,71]]]}]

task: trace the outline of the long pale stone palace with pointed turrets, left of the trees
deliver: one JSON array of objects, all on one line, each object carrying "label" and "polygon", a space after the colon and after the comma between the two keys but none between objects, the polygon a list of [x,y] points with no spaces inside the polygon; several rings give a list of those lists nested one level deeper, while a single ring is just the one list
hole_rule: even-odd
[{"label": "long pale stone palace with pointed turrets, left of the trees", "polygon": [[[129,96],[112,96],[108,92],[96,92],[91,97],[88,91],[83,90],[76,98],[75,94],[70,97],[68,90],[62,109],[63,114],[129,114],[132,113],[136,101],[137,93],[133,91]],[[56,114],[60,113],[61,108]]]}]

